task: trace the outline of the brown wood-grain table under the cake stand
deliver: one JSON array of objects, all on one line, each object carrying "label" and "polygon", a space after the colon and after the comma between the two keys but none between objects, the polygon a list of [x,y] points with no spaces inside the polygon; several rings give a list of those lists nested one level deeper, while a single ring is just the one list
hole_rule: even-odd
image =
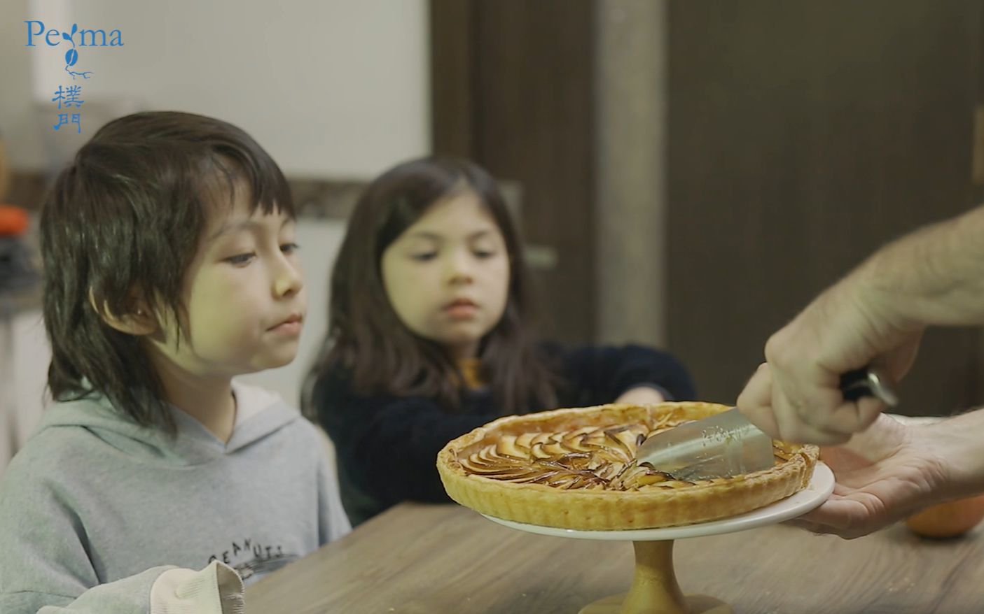
[{"label": "brown wood-grain table under the cake stand", "polygon": [[[675,543],[684,592],[740,614],[984,612],[984,530],[854,540],[785,526]],[[626,591],[629,542],[547,537],[457,505],[404,503],[246,590],[249,614],[577,614]]]}]

